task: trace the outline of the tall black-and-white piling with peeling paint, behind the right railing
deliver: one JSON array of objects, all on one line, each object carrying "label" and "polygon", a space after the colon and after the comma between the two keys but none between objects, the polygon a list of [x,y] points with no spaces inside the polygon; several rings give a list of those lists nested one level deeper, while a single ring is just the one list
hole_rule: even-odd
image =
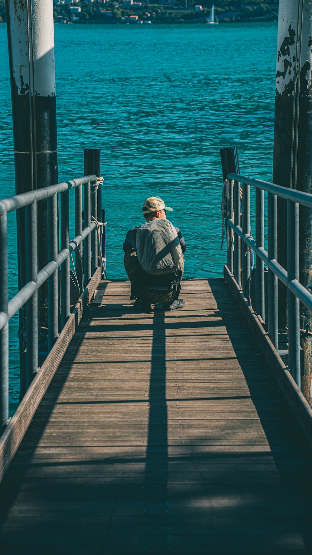
[{"label": "tall black-and-white piling with peeling paint, behind the right railing", "polygon": [[[273,182],[312,191],[312,4],[309,0],[280,0],[276,60]],[[287,203],[278,199],[278,261],[287,267]],[[299,280],[312,285],[311,210],[300,206]],[[286,290],[279,285],[279,328],[286,324]],[[311,314],[300,307],[300,328],[312,329]],[[301,381],[311,404],[312,337],[301,332],[305,377]]]}]

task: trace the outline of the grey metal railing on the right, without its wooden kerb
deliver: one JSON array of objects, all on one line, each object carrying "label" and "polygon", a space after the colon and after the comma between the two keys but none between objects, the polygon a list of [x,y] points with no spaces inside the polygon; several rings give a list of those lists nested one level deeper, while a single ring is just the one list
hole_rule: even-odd
[{"label": "grey metal railing on the right, without its wooden kerb", "polygon": [[[240,187],[243,189],[242,214]],[[255,189],[255,239],[250,235],[250,187]],[[264,249],[264,191],[268,193],[268,251]],[[278,197],[287,200],[287,270],[277,261]],[[291,376],[300,388],[299,301],[312,311],[312,294],[299,282],[299,204],[312,208],[312,195],[243,175],[228,174],[228,268],[241,288],[241,284],[246,284],[250,278],[250,249],[254,251],[256,255],[255,312],[265,321],[264,265],[268,266],[268,334],[276,350],[279,348],[278,280],[287,288],[288,366]],[[240,220],[241,216],[242,220]]]}]

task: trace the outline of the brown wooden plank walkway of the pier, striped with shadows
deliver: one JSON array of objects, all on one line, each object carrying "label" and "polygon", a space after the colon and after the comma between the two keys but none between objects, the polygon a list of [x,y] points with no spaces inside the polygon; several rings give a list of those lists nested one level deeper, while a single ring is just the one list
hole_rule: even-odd
[{"label": "brown wooden plank walkway of the pier, striped with shadows", "polygon": [[311,450],[224,280],[101,282],[1,486],[2,555],[311,554]]}]

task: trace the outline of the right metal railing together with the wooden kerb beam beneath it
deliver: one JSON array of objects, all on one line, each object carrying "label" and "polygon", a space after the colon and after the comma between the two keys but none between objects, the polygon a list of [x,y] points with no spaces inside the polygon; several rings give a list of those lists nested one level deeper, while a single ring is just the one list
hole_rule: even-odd
[{"label": "right metal railing together with the wooden kerb beam beneath it", "polygon": [[[250,235],[250,187],[255,189],[255,239]],[[266,222],[265,191],[268,194]],[[278,198],[287,201],[287,270],[277,261]],[[244,316],[252,324],[266,359],[271,366],[275,367],[274,373],[281,389],[312,443],[312,411],[300,389],[300,302],[312,312],[312,291],[299,281],[299,205],[312,209],[312,194],[229,173],[227,176],[227,265],[224,267],[224,277],[238,300]],[[264,248],[265,224],[268,238],[267,251]],[[256,259],[254,311],[250,297],[247,300],[248,295],[242,290],[248,281],[250,283],[251,249]],[[268,269],[266,287],[265,265]],[[281,351],[278,329],[278,280],[287,289],[288,364],[285,364],[285,360],[283,361],[279,356]]]}]

